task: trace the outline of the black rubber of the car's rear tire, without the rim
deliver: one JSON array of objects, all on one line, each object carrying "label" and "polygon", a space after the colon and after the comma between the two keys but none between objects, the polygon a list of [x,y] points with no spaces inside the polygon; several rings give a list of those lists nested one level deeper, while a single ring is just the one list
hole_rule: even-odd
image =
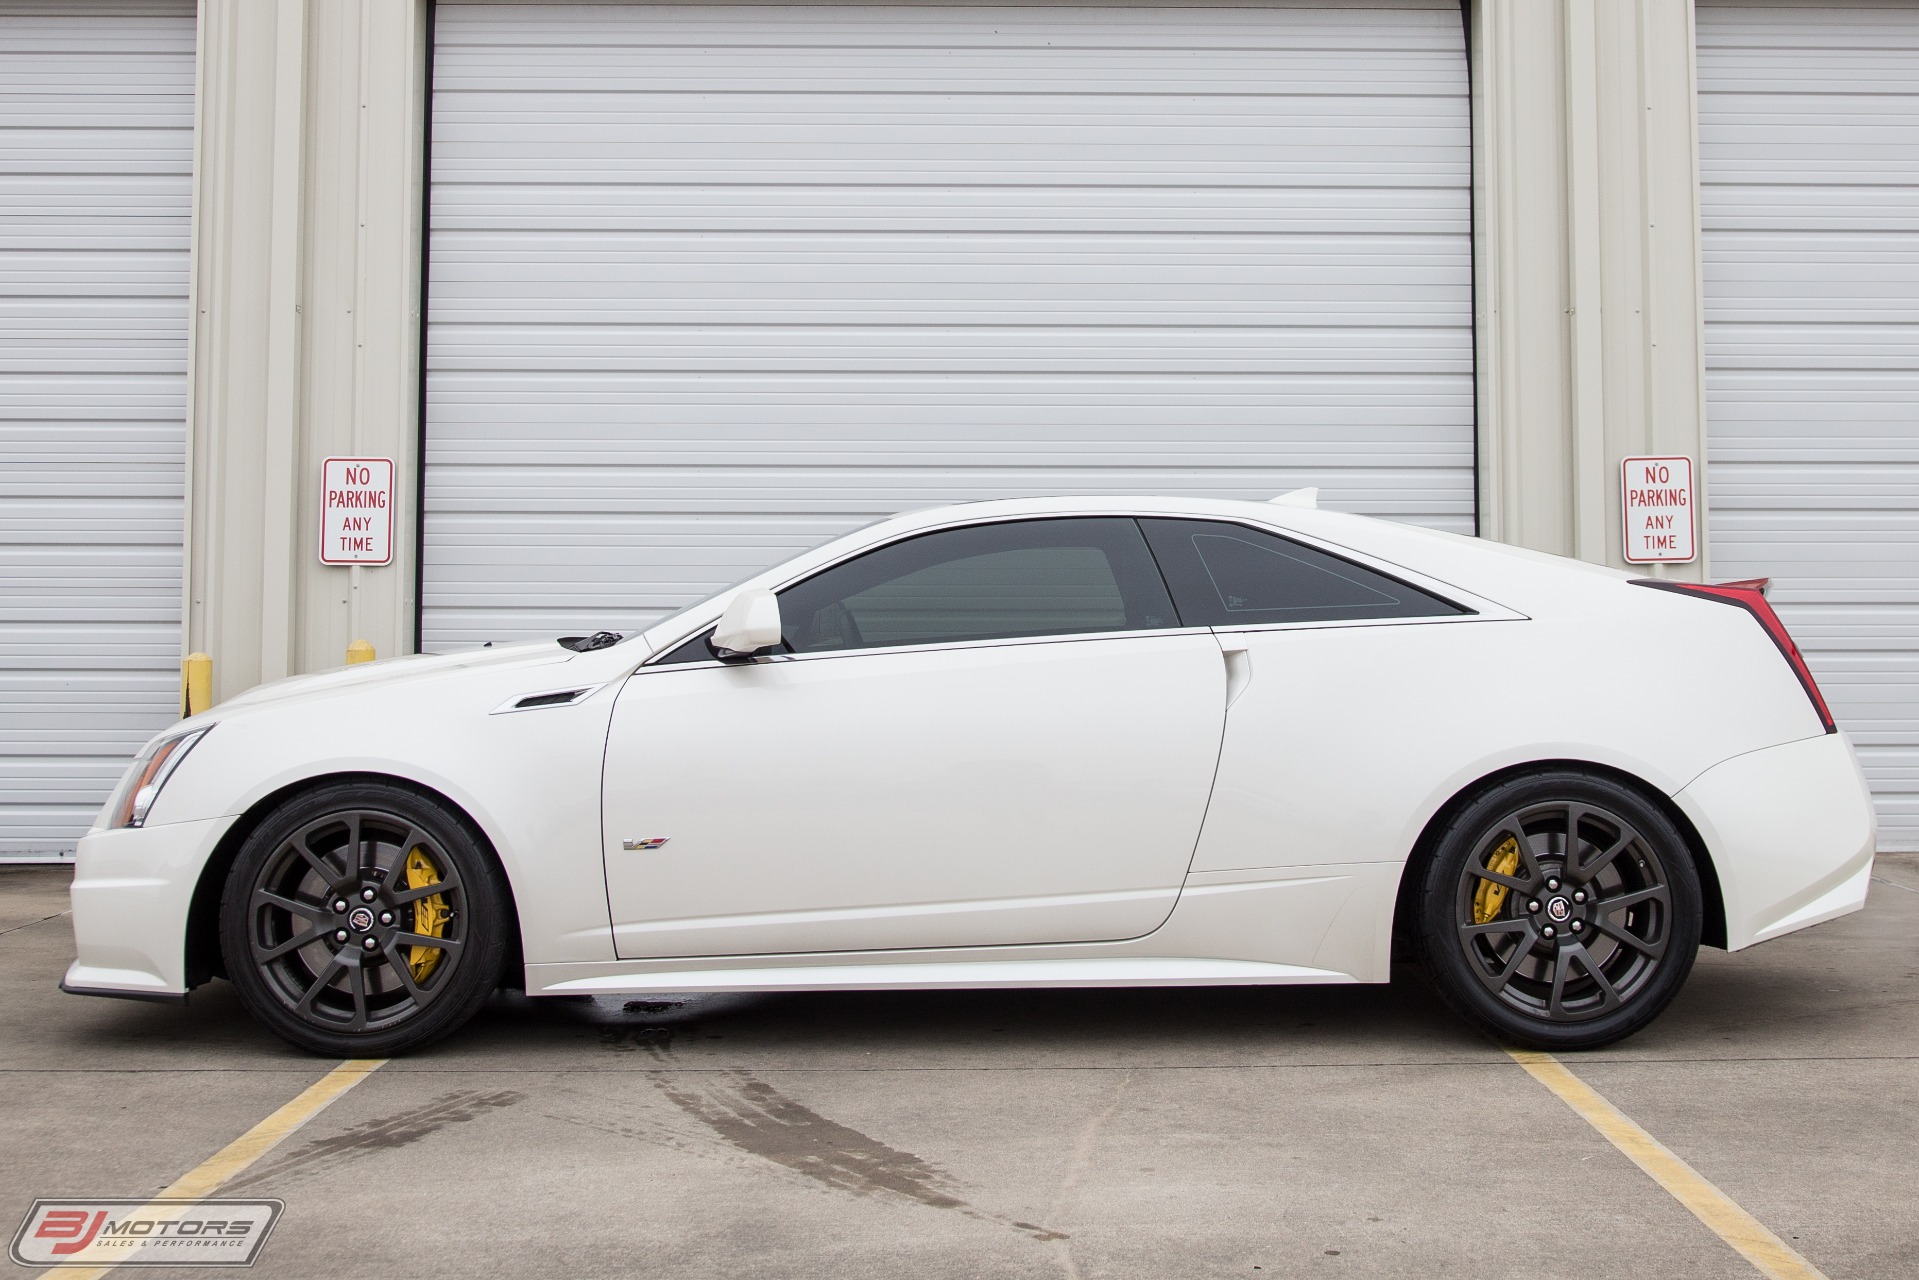
[{"label": "black rubber of the car's rear tire, without the rim", "polygon": [[[1458,881],[1491,825],[1514,810],[1558,800],[1589,802],[1616,812],[1652,844],[1666,865],[1671,923],[1666,954],[1652,981],[1627,1004],[1581,1023],[1547,1023],[1503,1004],[1474,975],[1458,944]],[[1641,1031],[1671,1004],[1698,954],[1704,927],[1704,894],[1691,842],[1660,806],[1610,777],[1554,770],[1510,779],[1474,798],[1433,841],[1418,894],[1416,942],[1420,963],[1439,996],[1455,1011],[1514,1044],[1543,1050],[1583,1050],[1614,1044]]]}]

